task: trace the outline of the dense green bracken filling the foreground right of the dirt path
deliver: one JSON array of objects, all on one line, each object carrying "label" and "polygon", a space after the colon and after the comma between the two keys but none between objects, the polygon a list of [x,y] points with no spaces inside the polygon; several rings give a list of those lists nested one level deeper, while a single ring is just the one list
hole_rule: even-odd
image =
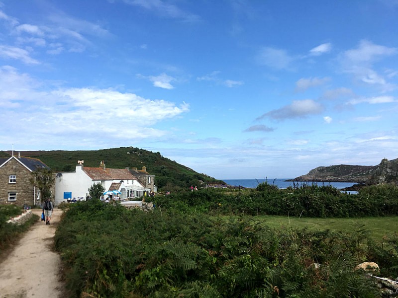
[{"label": "dense green bracken filling the foreground right of the dirt path", "polygon": [[[199,191],[186,200],[211,201]],[[369,254],[367,240],[361,229],[275,230],[250,217],[92,201],[71,206],[55,235],[71,297],[109,298],[378,297],[373,281],[353,271]]]}]

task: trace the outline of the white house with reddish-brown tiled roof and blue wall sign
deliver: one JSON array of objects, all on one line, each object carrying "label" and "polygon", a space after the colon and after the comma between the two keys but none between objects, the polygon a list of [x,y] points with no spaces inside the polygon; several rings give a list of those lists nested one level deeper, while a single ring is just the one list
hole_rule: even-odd
[{"label": "white house with reddish-brown tiled roof and blue wall sign", "polygon": [[128,169],[106,168],[103,162],[100,167],[85,167],[83,161],[76,165],[73,172],[57,173],[55,178],[55,204],[67,199],[84,200],[89,188],[100,183],[105,191],[118,190],[121,199],[131,199],[149,195],[149,188],[142,185]]}]

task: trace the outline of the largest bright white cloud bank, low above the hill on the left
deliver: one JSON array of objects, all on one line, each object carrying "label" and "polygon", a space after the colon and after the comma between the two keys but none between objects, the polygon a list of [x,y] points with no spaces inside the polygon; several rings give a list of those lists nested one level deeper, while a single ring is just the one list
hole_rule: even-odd
[{"label": "largest bright white cloud bank, low above the hill on the left", "polygon": [[[189,111],[185,102],[176,105],[112,89],[54,88],[12,67],[0,68],[0,97],[7,105],[0,109],[0,126],[21,144],[23,139],[41,138],[44,143],[65,138],[75,144],[85,139],[157,138],[170,132],[153,125]],[[13,118],[19,121],[9,122]]]}]

